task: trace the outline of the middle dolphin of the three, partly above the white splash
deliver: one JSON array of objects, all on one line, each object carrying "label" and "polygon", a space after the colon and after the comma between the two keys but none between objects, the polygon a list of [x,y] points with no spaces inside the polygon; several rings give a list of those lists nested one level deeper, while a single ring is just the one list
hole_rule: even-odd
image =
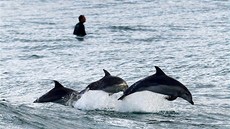
[{"label": "middle dolphin of the three, partly above the white splash", "polygon": [[90,83],[80,94],[84,94],[88,90],[102,90],[109,95],[125,91],[128,88],[127,83],[120,77],[112,76],[107,70],[103,69],[105,76],[100,80]]}]

